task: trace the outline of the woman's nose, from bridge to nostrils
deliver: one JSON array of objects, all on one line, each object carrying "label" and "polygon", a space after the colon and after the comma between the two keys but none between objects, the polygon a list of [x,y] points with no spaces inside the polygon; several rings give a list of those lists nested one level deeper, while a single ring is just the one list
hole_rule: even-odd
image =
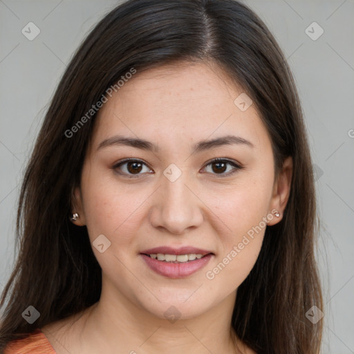
[{"label": "woman's nose, from bridge to nostrils", "polygon": [[203,202],[184,174],[174,182],[162,176],[149,218],[151,225],[162,232],[183,234],[203,223]]}]

